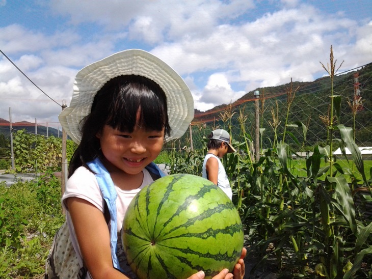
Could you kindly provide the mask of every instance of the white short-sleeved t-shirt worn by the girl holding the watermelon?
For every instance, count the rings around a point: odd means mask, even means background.
[[[131,202],[131,200],[136,196],[136,194],[146,185],[153,182],[150,173],[144,169],[143,170],[143,181],[139,188],[124,191],[115,185],[116,192],[118,194],[116,200],[116,213],[117,213],[117,231],[120,232],[123,225],[123,219],[125,212]],[[83,264],[82,254],[76,239],[75,230],[72,225],[72,220],[68,208],[66,206],[66,199],[75,197],[86,200],[97,207],[101,212],[104,209],[104,200],[102,197],[102,192],[99,189],[99,185],[95,175],[86,169],[84,166],[79,167],[73,175],[68,179],[66,184],[65,193],[62,197],[62,204],[66,208],[66,221],[70,230],[70,238],[72,245],[76,251],[77,257],[81,264]],[[110,225],[109,225],[110,227]],[[89,272],[87,278],[91,278]]]

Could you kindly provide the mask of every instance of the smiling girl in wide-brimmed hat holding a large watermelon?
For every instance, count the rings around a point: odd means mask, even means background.
[[[79,144],[62,202],[87,278],[135,277],[121,246],[125,211],[136,193],[164,176],[152,161],[165,140],[182,136],[193,117],[187,85],[146,51],[122,51],[77,73],[70,107],[59,117]],[[116,206],[105,200],[101,184],[114,185]],[[104,214],[108,211],[109,224]],[[215,278],[243,278],[244,268],[241,259],[234,274],[224,269]],[[199,271],[190,278],[203,277]]]

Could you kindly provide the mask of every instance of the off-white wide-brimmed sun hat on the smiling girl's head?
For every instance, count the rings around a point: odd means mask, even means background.
[[[106,82],[119,75],[141,75],[155,81],[167,96],[171,133],[166,140],[184,134],[194,118],[194,99],[190,89],[170,66],[153,54],[129,49],[90,64],[76,74],[70,106],[58,117],[75,143],[81,141],[79,125],[90,114],[94,96]]]

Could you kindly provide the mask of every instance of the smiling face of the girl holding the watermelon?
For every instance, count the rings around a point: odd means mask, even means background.
[[[105,125],[97,137],[102,154],[110,164],[107,166],[109,172],[119,170],[136,175],[160,154],[164,143],[164,129],[148,131],[136,126],[129,133]]]

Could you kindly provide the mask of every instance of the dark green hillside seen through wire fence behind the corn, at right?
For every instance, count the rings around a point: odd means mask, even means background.
[[[355,142],[360,147],[372,146],[371,70],[372,64],[368,64],[358,72],[336,76],[334,80],[333,96],[341,99],[339,118],[334,117],[334,125],[354,128]],[[289,83],[280,92],[265,90],[267,92],[260,92],[258,99],[252,93],[246,99],[196,114],[189,132],[173,147],[202,150],[206,136],[214,129],[228,130],[237,142],[242,142],[244,136],[253,142],[256,133],[255,102],[259,107],[259,136],[263,149],[273,147],[276,137],[277,142],[285,141],[297,151],[326,145],[331,103],[329,77],[310,83],[294,82],[292,90]],[[284,131],[285,139],[282,138]],[[335,135],[337,137],[337,130]],[[338,147],[337,141],[334,146]]]

